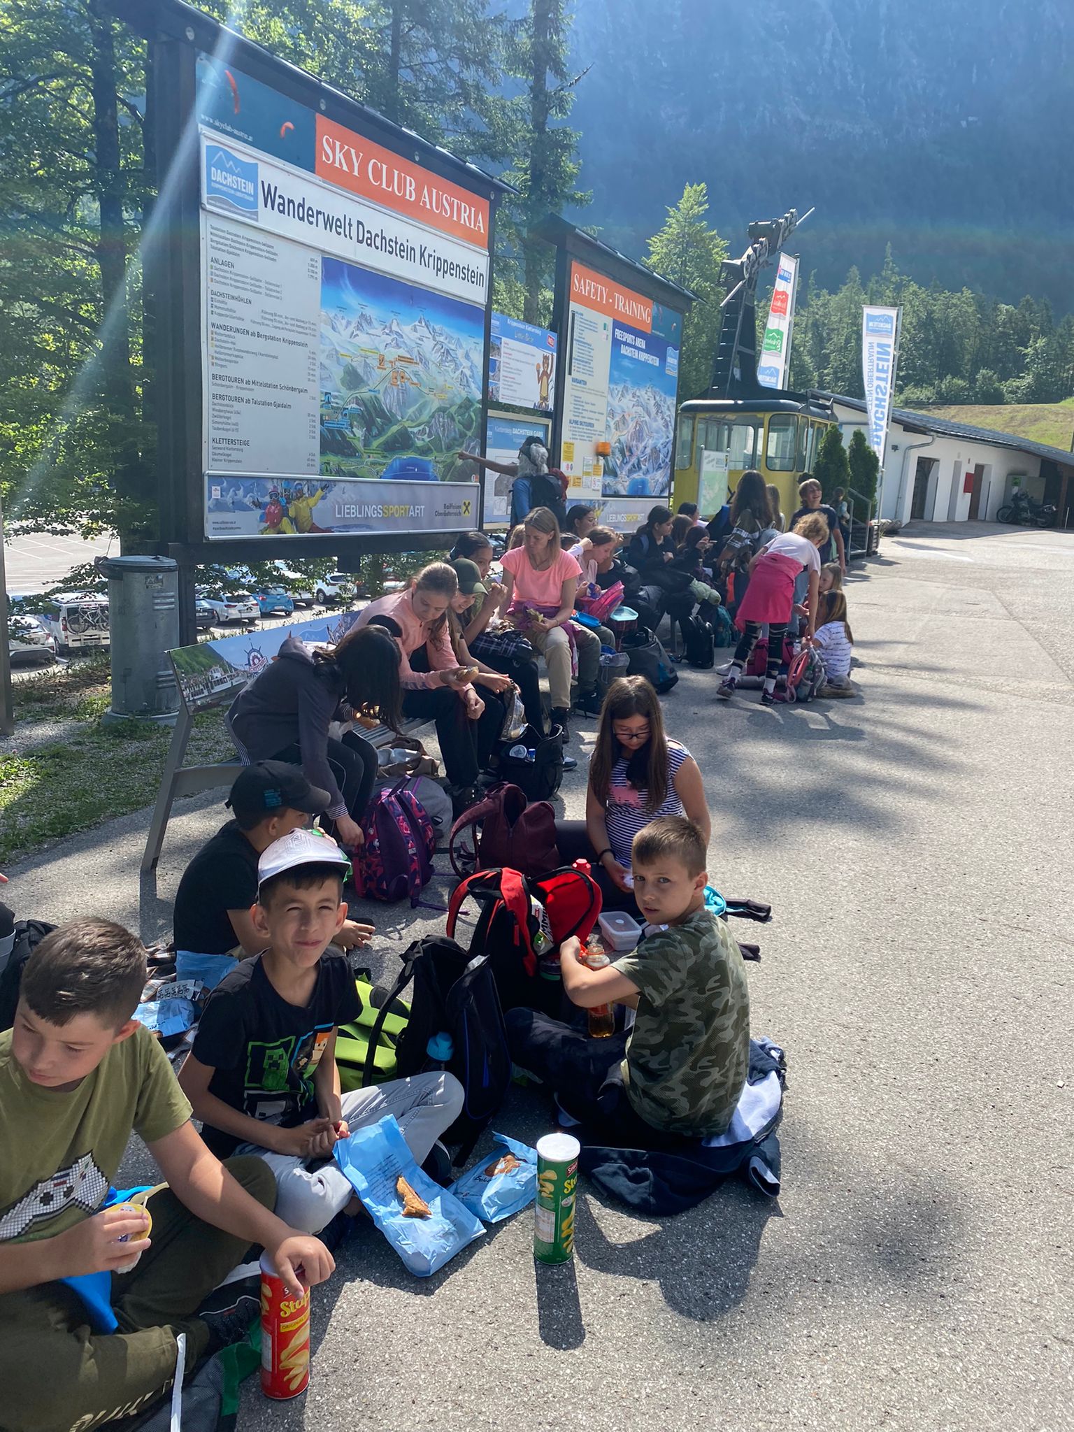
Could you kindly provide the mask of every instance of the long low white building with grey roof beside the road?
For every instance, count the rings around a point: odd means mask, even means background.
[[[866,431],[865,404],[832,394],[843,442]],[[898,521],[995,521],[1015,488],[1055,503],[1058,526],[1074,527],[1074,453],[895,408],[888,428],[881,517]]]

